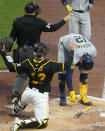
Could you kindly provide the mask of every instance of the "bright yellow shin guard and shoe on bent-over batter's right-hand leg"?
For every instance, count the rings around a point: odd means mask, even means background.
[[[92,105],[92,102],[87,99],[87,84],[82,84],[80,82],[80,98],[79,102],[84,105]]]

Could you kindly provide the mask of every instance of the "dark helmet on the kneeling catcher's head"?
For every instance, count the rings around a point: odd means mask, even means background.
[[[47,54],[47,46],[41,42],[37,42],[34,44],[34,53],[37,57],[42,57]]]

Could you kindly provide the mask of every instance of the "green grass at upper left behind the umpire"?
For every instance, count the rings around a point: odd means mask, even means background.
[[[0,0],[0,38],[10,34],[13,20],[24,15],[24,7],[29,1],[32,0]],[[13,48],[16,48],[16,43]],[[0,56],[0,69],[4,68],[6,66]]]

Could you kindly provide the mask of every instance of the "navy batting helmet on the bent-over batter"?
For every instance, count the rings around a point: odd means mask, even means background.
[[[93,65],[94,65],[94,62],[93,62],[93,59],[92,57],[89,55],[89,54],[84,54],[82,56],[82,63],[81,63],[81,67],[84,69],[84,70],[90,70],[93,68]]]

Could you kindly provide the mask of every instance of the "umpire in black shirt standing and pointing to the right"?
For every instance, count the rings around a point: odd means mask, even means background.
[[[5,46],[5,53],[9,53],[13,46],[13,42],[17,40],[18,48],[13,51],[13,58],[15,63],[29,58],[33,59],[33,44],[40,42],[40,35],[43,32],[53,32],[60,29],[72,15],[66,16],[56,24],[49,24],[45,20],[37,18],[41,12],[40,7],[35,2],[29,2],[25,6],[25,15],[18,17],[13,22],[13,27],[9,37],[0,39],[0,48]],[[8,45],[8,46],[7,46]],[[7,48],[8,47],[8,48]],[[20,98],[23,84],[27,78],[26,73],[21,72],[16,76],[14,88],[12,90],[13,101],[15,102]]]

